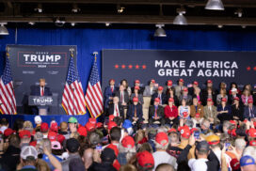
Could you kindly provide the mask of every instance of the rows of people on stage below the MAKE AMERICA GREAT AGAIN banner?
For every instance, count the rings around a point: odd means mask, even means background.
[[[256,121],[256,86],[245,85],[240,90],[236,83],[228,89],[225,83],[220,83],[216,89],[212,80],[207,80],[205,88],[201,89],[197,81],[190,87],[184,85],[184,79],[178,80],[174,86],[171,80],[165,86],[151,80],[149,85],[140,86],[139,80],[130,87],[126,80],[121,80],[119,87],[111,79],[104,89],[104,117],[114,115],[130,119],[134,126],[139,126],[143,120],[143,97],[151,97],[148,123],[180,124],[191,119],[198,126],[203,118],[208,118],[212,125],[225,120]],[[125,109],[127,109],[126,115]]]

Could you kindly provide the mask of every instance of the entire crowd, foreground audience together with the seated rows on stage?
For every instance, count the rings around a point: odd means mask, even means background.
[[[256,86],[110,80],[104,114],[80,125],[0,120],[0,170],[254,171]],[[144,97],[151,105],[145,114]],[[99,121],[100,120],[100,121]]]

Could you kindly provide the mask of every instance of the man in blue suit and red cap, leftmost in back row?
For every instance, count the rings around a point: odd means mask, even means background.
[[[104,88],[104,109],[108,108],[110,102],[113,102],[113,97],[115,95],[116,87],[115,80],[109,80],[109,85]]]

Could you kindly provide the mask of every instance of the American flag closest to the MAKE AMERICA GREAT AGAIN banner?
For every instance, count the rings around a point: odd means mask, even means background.
[[[103,92],[96,57],[88,80],[86,104],[91,117],[100,117],[104,111]]]

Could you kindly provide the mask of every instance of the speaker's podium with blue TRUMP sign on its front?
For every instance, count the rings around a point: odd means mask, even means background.
[[[56,96],[29,96],[28,105],[37,106],[40,116],[47,116],[49,106],[57,105]]]

